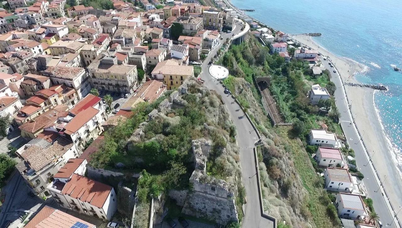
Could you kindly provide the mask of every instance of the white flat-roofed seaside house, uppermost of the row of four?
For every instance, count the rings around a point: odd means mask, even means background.
[[[336,135],[324,129],[312,129],[308,134],[310,145],[319,147],[339,148],[340,142]]]

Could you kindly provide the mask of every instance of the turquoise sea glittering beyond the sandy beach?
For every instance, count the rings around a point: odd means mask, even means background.
[[[254,9],[246,14],[285,33],[322,33],[314,37],[321,47],[367,66],[356,78],[389,88],[376,92],[374,103],[394,151],[402,155],[402,71],[391,67],[402,69],[401,0],[232,0],[232,4]]]

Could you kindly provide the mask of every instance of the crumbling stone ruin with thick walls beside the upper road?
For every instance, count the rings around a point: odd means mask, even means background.
[[[192,141],[195,170],[190,177],[192,191],[187,195],[182,213],[214,220],[219,224],[238,221],[235,204],[236,187],[224,180],[206,174],[206,164],[211,145]]]

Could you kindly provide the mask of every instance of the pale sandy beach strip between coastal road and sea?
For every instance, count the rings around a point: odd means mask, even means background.
[[[236,12],[243,16],[252,18],[252,16],[248,16],[243,12],[240,12],[236,6],[232,5],[231,2],[227,0],[224,1],[228,7],[233,8]],[[267,26],[267,24],[260,22],[255,18],[252,19]],[[272,28],[270,26],[267,27]],[[273,30],[276,31],[275,29]],[[395,208],[398,210],[399,206],[402,205],[402,199],[398,197],[400,195],[400,189],[402,189],[402,167],[398,163],[398,155],[393,149],[391,140],[385,132],[384,126],[381,122],[381,117],[379,116],[379,111],[375,105],[375,90],[371,88],[351,87],[344,84],[347,82],[361,83],[354,77],[354,75],[356,73],[364,73],[369,68],[358,63],[357,61],[354,61],[353,59],[338,57],[332,54],[330,51],[318,45],[318,43],[314,41],[312,37],[306,35],[289,35],[289,37],[303,45],[315,48],[321,54],[328,56],[329,60],[337,69],[338,75],[340,75],[343,87],[345,89],[345,99],[349,100],[351,107],[350,112],[352,118],[355,120],[355,126],[357,128],[359,137],[361,137],[361,143],[364,146],[363,150],[365,150],[367,160],[370,160],[373,165],[372,167],[374,175],[377,173],[377,177],[381,177],[379,181],[384,189],[386,201],[388,200],[391,205],[391,214],[395,214]],[[363,135],[361,132],[363,132]],[[369,143],[366,144],[365,142]],[[378,154],[376,154],[377,152]],[[375,169],[374,167],[379,167],[379,169]],[[386,178],[389,178],[388,181],[386,181]],[[399,220],[402,219],[402,214],[396,215],[396,218],[399,223]]]

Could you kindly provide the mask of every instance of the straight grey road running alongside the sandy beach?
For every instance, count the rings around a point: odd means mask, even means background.
[[[336,107],[338,108],[340,113],[339,121],[345,137],[348,140],[350,148],[355,151],[356,163],[358,165],[359,171],[364,175],[363,182],[367,189],[367,195],[369,198],[373,199],[375,212],[377,212],[377,214],[379,215],[383,227],[396,228],[395,222],[392,225],[388,225],[393,220],[393,212],[390,212],[390,210],[388,209],[387,199],[384,198],[383,194],[381,193],[381,189],[378,190],[380,186],[376,180],[376,174],[373,173],[371,165],[367,165],[367,156],[359,141],[360,138],[359,136],[357,136],[355,128],[352,124],[353,119],[349,115],[349,109],[347,106],[347,102],[345,101],[345,94],[342,89],[342,81],[340,80],[338,73],[333,72],[334,68],[329,67],[328,61],[325,61],[322,56],[320,56],[320,60],[322,61],[323,65],[330,71],[331,81],[334,82],[334,84],[336,85],[334,97],[336,101]]]

